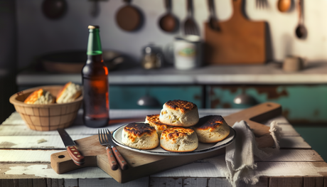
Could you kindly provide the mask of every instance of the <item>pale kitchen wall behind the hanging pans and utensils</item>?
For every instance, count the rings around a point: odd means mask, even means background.
[[[141,48],[154,43],[166,46],[177,33],[164,33],[158,25],[159,18],[166,12],[164,0],[134,0],[132,5],[144,14],[144,24],[134,32],[122,31],[115,22],[115,15],[124,6],[122,0],[102,0],[100,14],[93,17],[90,7],[94,1],[65,0],[68,11],[58,20],[50,20],[41,11],[42,0],[16,0],[18,29],[18,68],[28,66],[33,58],[43,53],[58,50],[85,49],[87,26],[101,26],[104,49],[118,50],[139,59]],[[282,61],[286,55],[300,55],[310,61],[327,60],[327,0],[304,0],[304,24],[308,30],[305,40],[295,36],[298,23],[297,2],[286,13],[277,9],[278,0],[267,0],[269,7],[257,9],[255,0],[245,1],[245,12],[252,21],[267,21],[272,40],[273,60]],[[232,0],[215,0],[216,13],[220,21],[232,15]],[[193,0],[195,20],[203,35],[203,23],[208,20],[207,1]],[[173,1],[173,14],[183,23],[186,18],[186,0]],[[242,28],[240,28],[242,29]]]

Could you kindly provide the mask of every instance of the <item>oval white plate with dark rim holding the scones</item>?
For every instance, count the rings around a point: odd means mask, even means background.
[[[122,130],[124,129],[124,127],[126,125],[127,124],[114,130],[114,132],[112,133],[113,134],[112,140],[118,146],[122,146],[125,149],[140,152],[143,154],[154,154],[154,155],[164,155],[164,156],[182,156],[182,155],[191,155],[191,154],[202,154],[202,153],[206,153],[206,152],[210,152],[210,151],[215,151],[216,149],[221,149],[221,148],[231,144],[232,141],[234,141],[235,137],[236,137],[235,130],[232,127],[230,127],[230,134],[225,139],[223,139],[223,141],[219,141],[218,143],[215,143],[215,144],[202,144],[199,142],[198,148],[191,152],[176,153],[176,152],[166,151],[166,150],[162,149],[160,145],[158,147],[156,147],[155,149],[141,150],[141,149],[132,148],[130,146],[126,146],[122,143]]]

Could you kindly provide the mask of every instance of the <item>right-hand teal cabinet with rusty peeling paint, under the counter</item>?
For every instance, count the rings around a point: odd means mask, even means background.
[[[233,102],[244,92],[257,103],[277,102],[293,124],[327,122],[327,85],[211,85],[206,87],[208,108],[245,108]]]

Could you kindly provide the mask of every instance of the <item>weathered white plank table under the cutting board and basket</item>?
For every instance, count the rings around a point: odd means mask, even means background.
[[[208,114],[225,116],[237,111],[199,109],[200,117]],[[147,114],[157,113],[159,110],[156,109],[112,109],[110,116],[145,118]],[[272,120],[282,127],[281,150],[267,160],[256,159],[256,171],[262,177],[255,186],[327,186],[326,162],[284,117],[275,117],[264,124],[269,125]],[[114,124],[107,128],[114,130],[121,125]],[[80,113],[66,131],[72,139],[97,134],[97,129],[82,124]],[[128,183],[117,183],[97,167],[57,174],[50,167],[50,155],[63,150],[65,146],[58,132],[28,129],[19,114],[14,112],[0,125],[0,186],[230,186],[223,173],[205,161],[196,161]],[[243,183],[242,186],[250,184]]]

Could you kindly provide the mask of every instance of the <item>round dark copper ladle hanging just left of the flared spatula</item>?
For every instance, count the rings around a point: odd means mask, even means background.
[[[171,13],[171,0],[165,0],[165,6],[167,13],[160,18],[159,26],[163,31],[166,31],[168,33],[177,31],[178,20]]]

